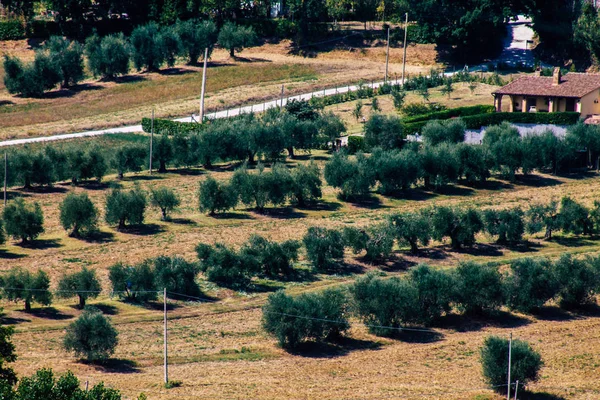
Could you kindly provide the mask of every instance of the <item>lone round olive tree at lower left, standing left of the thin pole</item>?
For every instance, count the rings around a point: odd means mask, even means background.
[[[67,327],[63,347],[87,361],[106,360],[115,352],[117,336],[117,330],[100,310],[88,308]]]

